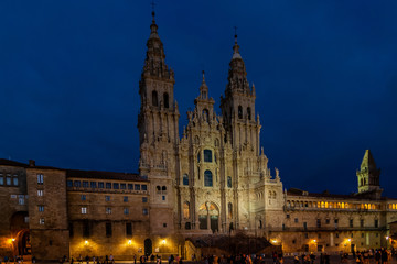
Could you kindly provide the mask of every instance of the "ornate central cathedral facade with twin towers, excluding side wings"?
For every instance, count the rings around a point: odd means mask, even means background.
[[[139,82],[138,129],[139,172],[151,183],[151,230],[162,235],[249,229],[258,218],[251,216],[250,193],[264,191],[258,188],[271,176],[260,151],[255,87],[248,84],[237,37],[221,98],[222,116],[214,111],[203,74],[195,108],[187,112],[189,123],[180,138],[174,73],[165,64],[154,13],[150,30]],[[280,180],[276,185],[281,196]]]

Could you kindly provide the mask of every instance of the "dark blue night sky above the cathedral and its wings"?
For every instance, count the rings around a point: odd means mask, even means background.
[[[233,26],[285,187],[356,190],[366,148],[397,196],[397,1],[157,1],[180,127],[223,94]],[[0,1],[0,157],[137,172],[150,1]]]

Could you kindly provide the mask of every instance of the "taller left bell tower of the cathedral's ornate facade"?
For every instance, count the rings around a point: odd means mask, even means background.
[[[152,12],[147,55],[139,81],[141,99],[138,114],[140,142],[139,174],[151,183],[150,227],[153,234],[167,235],[174,230],[173,179],[179,172],[179,110],[174,101],[174,73],[165,64],[163,44]]]

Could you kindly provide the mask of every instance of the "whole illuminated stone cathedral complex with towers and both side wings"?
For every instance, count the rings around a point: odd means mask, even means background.
[[[393,246],[397,199],[382,196],[369,150],[355,175],[355,194],[283,189],[260,146],[255,86],[237,35],[230,55],[221,114],[203,72],[180,135],[174,73],[153,13],[139,81],[139,173],[0,160],[0,255],[190,260],[204,248],[219,248],[208,239],[242,233],[294,254]]]

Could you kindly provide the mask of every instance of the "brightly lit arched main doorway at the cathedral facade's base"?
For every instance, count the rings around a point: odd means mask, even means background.
[[[198,208],[200,229],[211,229],[214,232],[219,231],[219,209],[211,201],[202,204]]]

